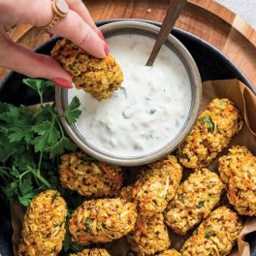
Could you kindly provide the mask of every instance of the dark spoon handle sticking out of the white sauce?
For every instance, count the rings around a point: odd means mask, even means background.
[[[155,58],[156,58],[157,54],[159,53],[160,48],[162,48],[169,33],[175,26],[176,19],[182,12],[185,4],[186,4],[186,0],[171,0],[171,3],[167,9],[165,19],[164,19],[161,29],[158,33],[154,48],[152,49],[150,56],[145,64],[146,66],[153,65]]]

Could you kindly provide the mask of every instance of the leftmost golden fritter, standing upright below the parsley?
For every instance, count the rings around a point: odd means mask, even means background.
[[[22,228],[19,256],[54,256],[62,249],[67,205],[53,189],[35,196],[27,208]]]

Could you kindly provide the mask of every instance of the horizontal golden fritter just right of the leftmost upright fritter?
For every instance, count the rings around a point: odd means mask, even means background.
[[[129,233],[137,218],[136,205],[125,200],[98,199],[85,201],[69,222],[72,240],[81,245],[108,242]]]

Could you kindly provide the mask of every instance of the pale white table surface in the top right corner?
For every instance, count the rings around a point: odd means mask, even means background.
[[[256,29],[256,0],[216,0]]]

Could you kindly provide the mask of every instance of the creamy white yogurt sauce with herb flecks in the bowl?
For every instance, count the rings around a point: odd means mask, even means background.
[[[68,101],[80,99],[77,125],[87,143],[111,155],[147,155],[174,140],[185,124],[191,106],[187,71],[166,46],[154,66],[145,67],[155,42],[145,36],[118,35],[107,42],[123,72],[121,88],[101,102],[73,88]]]

